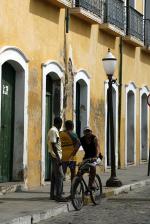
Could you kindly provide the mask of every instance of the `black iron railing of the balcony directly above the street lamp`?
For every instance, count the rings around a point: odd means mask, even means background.
[[[125,8],[122,0],[106,0],[104,7],[104,22],[125,29]]]

